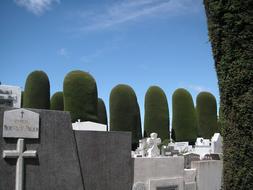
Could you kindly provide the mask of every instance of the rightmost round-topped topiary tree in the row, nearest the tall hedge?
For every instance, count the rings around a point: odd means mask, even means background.
[[[198,118],[198,136],[211,139],[218,132],[217,104],[215,97],[209,92],[201,92],[196,99]]]

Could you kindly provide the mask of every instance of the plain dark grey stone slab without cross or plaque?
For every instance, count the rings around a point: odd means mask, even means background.
[[[85,190],[131,190],[131,133],[75,131]]]

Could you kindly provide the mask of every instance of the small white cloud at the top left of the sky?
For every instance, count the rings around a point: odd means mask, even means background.
[[[50,10],[53,3],[60,3],[60,0],[14,0],[20,7],[25,7],[35,15],[42,15]]]

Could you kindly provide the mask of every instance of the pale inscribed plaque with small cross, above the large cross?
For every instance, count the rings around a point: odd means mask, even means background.
[[[26,109],[5,111],[3,137],[39,138],[39,114]]]

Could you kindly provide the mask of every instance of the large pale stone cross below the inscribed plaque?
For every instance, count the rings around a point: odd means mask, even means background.
[[[15,190],[23,189],[24,158],[35,158],[36,150],[25,150],[24,139],[18,139],[17,150],[4,150],[3,158],[17,158]]]

